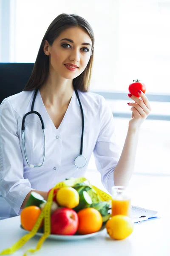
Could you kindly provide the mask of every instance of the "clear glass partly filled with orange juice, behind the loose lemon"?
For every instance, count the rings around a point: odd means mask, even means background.
[[[126,191],[125,186],[112,187],[112,212],[111,215],[126,215],[130,217],[131,197]]]

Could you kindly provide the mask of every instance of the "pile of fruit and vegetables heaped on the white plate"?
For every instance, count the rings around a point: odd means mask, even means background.
[[[49,193],[52,189],[48,191]],[[87,182],[76,183],[53,190],[50,209],[51,234],[85,235],[98,232],[111,217],[111,201],[101,201],[98,193]],[[21,225],[31,231],[47,202],[31,192],[21,212]],[[38,232],[44,231],[43,220]]]

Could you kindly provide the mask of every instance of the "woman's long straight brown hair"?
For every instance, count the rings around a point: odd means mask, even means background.
[[[40,88],[42,84],[48,78],[49,73],[49,56],[45,55],[43,51],[43,46],[45,40],[48,41],[50,46],[53,44],[54,40],[59,36],[59,34],[69,27],[82,27],[91,38],[92,41],[92,49],[91,49],[91,57],[88,62],[87,67],[85,70],[76,78],[73,79],[73,86],[76,87],[78,90],[83,92],[89,91],[90,80],[91,80],[91,73],[92,73],[92,64],[94,59],[94,32],[91,28],[90,24],[79,15],[75,14],[67,14],[62,13],[58,15],[50,24],[45,35],[42,39],[40,49],[37,54],[36,61],[34,63],[34,68],[32,70],[31,76],[23,89],[23,91],[30,91],[37,88]]]

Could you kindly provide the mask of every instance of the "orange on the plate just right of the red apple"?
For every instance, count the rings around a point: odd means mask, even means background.
[[[97,232],[102,227],[102,215],[94,208],[85,208],[77,212],[79,226],[77,232],[81,235]]]

